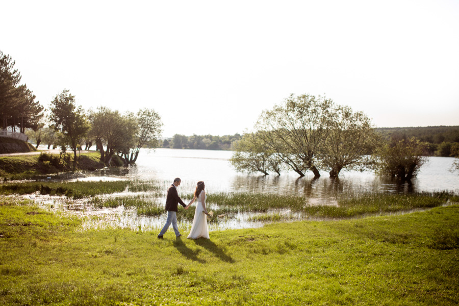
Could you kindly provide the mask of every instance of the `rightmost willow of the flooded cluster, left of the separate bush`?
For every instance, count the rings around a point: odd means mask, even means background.
[[[327,137],[318,154],[321,168],[327,169],[333,178],[338,177],[342,169],[363,171],[372,163],[370,154],[376,143],[370,118],[340,105],[332,114]]]

